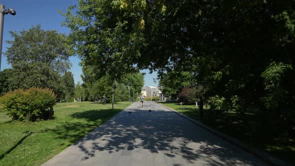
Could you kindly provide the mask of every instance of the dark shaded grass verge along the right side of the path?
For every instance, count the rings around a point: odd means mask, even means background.
[[[273,128],[260,123],[261,115],[255,113],[240,115],[236,112],[212,115],[211,112],[205,110],[204,118],[200,119],[198,108],[195,105],[161,103],[246,144],[262,149],[295,165],[295,140],[289,138],[286,131],[272,134],[271,130]]]

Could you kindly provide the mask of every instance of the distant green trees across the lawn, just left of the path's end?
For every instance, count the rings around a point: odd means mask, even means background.
[[[89,70],[89,67],[83,67],[82,70],[83,84],[76,85],[76,89],[81,89],[76,90],[76,93],[79,93],[79,96],[83,94],[83,98],[86,97],[91,101],[102,99],[104,94],[107,98],[106,102],[111,101],[112,87],[114,88],[115,101],[132,100],[133,97],[136,98],[140,95],[141,87],[144,84],[143,74],[140,72],[127,73],[122,76],[122,79],[112,81],[109,75],[97,78],[95,72]]]

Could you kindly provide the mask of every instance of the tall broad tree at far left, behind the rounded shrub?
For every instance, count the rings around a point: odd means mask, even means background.
[[[5,41],[10,46],[4,52],[12,66],[9,88],[48,87],[60,97],[61,74],[70,67],[66,35],[40,25],[9,32],[13,40]]]

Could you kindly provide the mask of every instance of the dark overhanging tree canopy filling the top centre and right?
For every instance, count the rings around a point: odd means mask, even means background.
[[[168,95],[194,87],[212,104],[289,121],[294,8],[293,0],[79,0],[63,15],[72,50],[95,75],[113,81],[149,68]]]

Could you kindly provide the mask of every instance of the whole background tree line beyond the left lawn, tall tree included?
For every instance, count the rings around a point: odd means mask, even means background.
[[[128,100],[128,87],[138,95],[143,86],[143,75],[139,72],[125,74],[121,80],[112,82],[109,76],[93,77],[93,70],[83,67],[84,83],[74,84],[68,57],[72,55],[66,35],[56,30],[43,30],[40,25],[20,32],[10,31],[12,40],[5,41],[10,46],[4,52],[11,68],[0,71],[0,93],[30,87],[50,88],[56,99],[72,101],[109,98],[114,83],[115,101]],[[91,71],[91,72],[90,72]],[[132,95],[131,95],[132,96]]]

